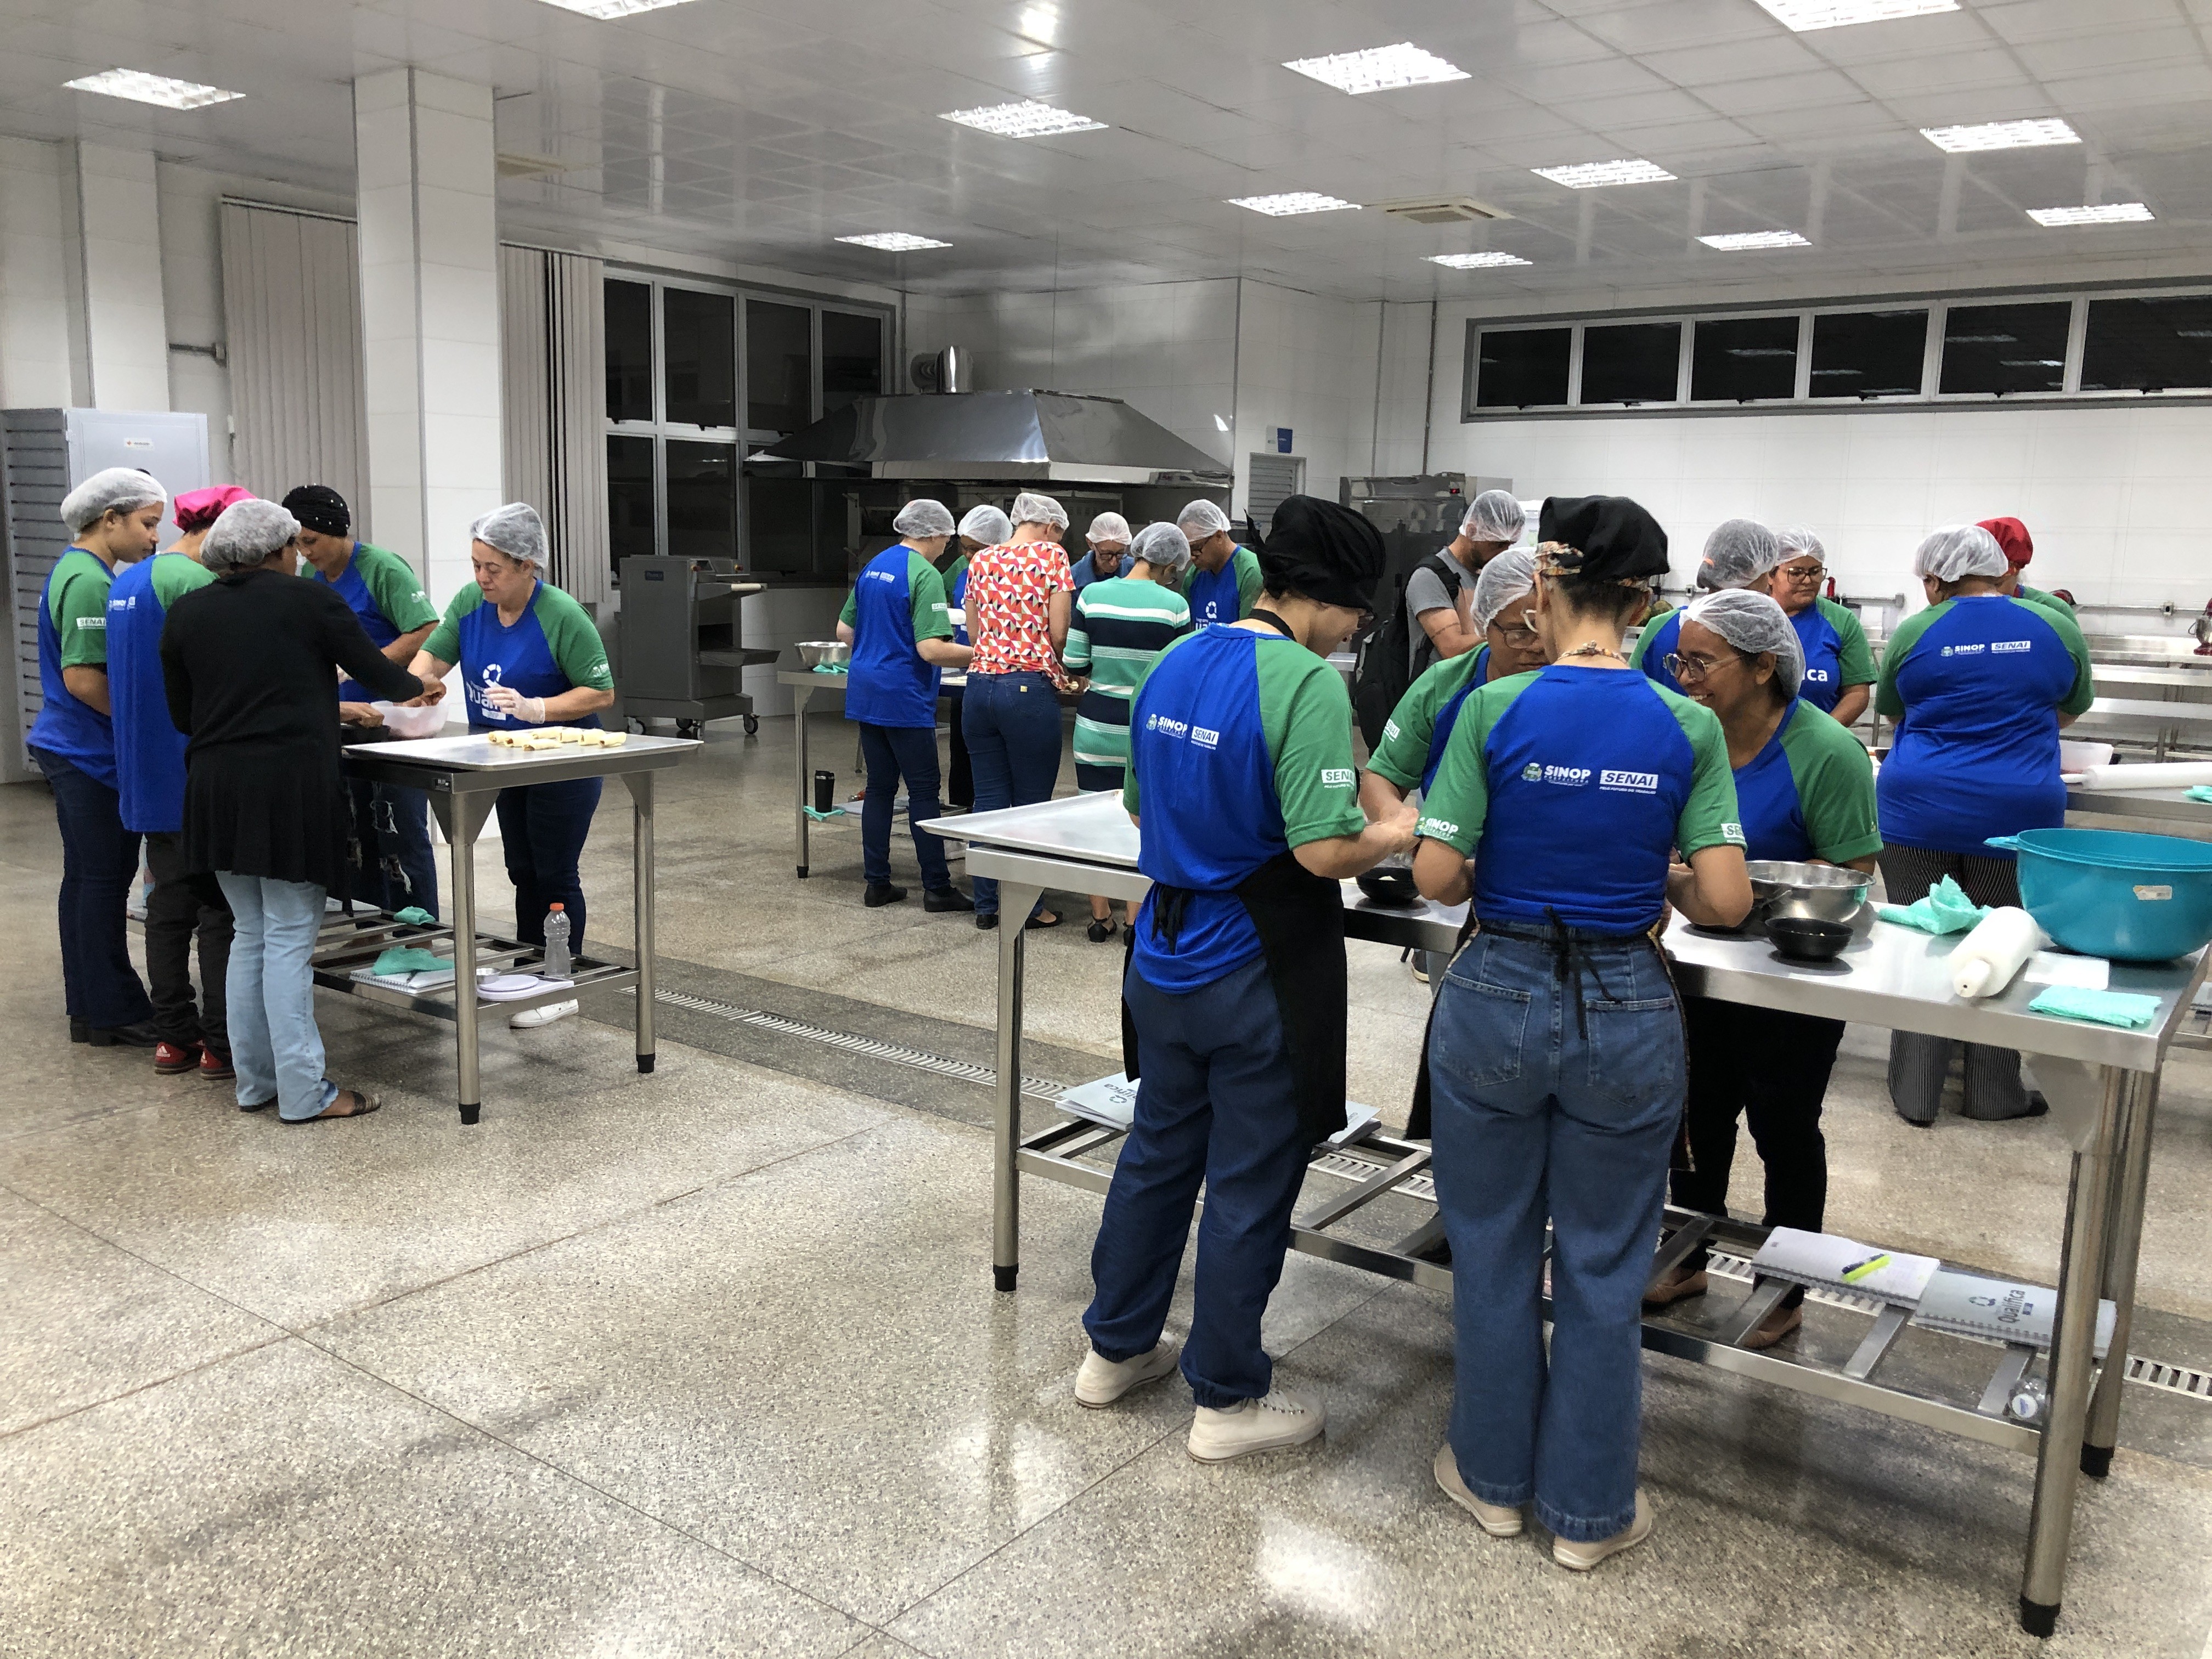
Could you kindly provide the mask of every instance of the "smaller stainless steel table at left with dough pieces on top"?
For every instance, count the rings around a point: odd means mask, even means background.
[[[699,748],[684,737],[633,737],[622,748],[511,750],[487,737],[425,737],[400,743],[354,743],[343,763],[349,779],[396,783],[429,794],[429,807],[445,830],[449,858],[447,920],[436,927],[409,927],[378,918],[363,927],[323,931],[314,953],[314,982],[325,991],[343,991],[389,1009],[409,1009],[453,1022],[453,1048],[460,1073],[460,1121],[476,1124],[482,1115],[478,1082],[476,1029],[484,1009],[507,1015],[549,1002],[566,1002],[584,991],[637,989],[637,1068],[653,1071],[653,774],[684,761]],[[500,790],[531,783],[571,783],[575,779],[619,776],[633,805],[633,947],[637,967],[604,962],[593,956],[573,958],[573,987],[540,991],[531,998],[484,1002],[458,995],[476,984],[478,962],[515,964],[535,960],[540,947],[500,933],[476,931],[476,836],[484,827]],[[453,984],[434,991],[403,991],[389,984],[356,980],[354,969],[367,967],[389,945],[431,949],[449,942],[453,951]]]

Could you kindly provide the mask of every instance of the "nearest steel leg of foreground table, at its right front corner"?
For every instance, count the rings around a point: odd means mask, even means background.
[[[2073,1544],[2073,1504],[2081,1480],[2081,1436],[2088,1425],[2090,1354],[2097,1345],[2097,1296],[2110,1250],[2112,1146],[2130,1073],[2104,1071],[2097,1133],[2075,1152],[2066,1188],[2066,1243],[2059,1254],[2059,1318],[2051,1345],[2051,1407],[2035,1453],[2035,1509],[2028,1517],[2028,1562],[2020,1582],[2020,1626],[2035,1637],[2057,1628]]]

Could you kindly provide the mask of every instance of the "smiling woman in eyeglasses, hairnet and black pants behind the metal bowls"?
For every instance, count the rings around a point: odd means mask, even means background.
[[[1752,860],[1874,869],[1882,830],[1874,812],[1867,750],[1823,714],[1805,686],[1796,624],[1763,593],[1708,593],[1683,613],[1681,650],[1668,661],[1692,701],[1721,717],[1728,765]],[[1686,998],[1690,1026],[1690,1164],[1674,1170],[1674,1203],[1728,1212],[1736,1119],[1752,1126],[1765,1164],[1767,1228],[1818,1232],[1827,1212],[1827,1141],[1820,1102],[1836,1068],[1843,1020]],[[1705,1252],[1646,1292],[1652,1305],[1705,1294]],[[1743,1347],[1772,1347],[1805,1314],[1803,1292],[1767,1314]]]

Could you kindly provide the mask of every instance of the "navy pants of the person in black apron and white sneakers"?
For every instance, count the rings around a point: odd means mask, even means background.
[[[1259,1321],[1283,1276],[1290,1208],[1312,1152],[1298,1133],[1283,1018],[1261,960],[1175,995],[1135,969],[1124,984],[1137,1020],[1137,1121],[1121,1141],[1106,1214],[1091,1250],[1097,1294],[1084,1314],[1108,1360],[1148,1354],[1175,1296],[1199,1217],[1197,1307],[1183,1378],[1199,1405],[1223,1409],[1267,1391],[1274,1363]]]

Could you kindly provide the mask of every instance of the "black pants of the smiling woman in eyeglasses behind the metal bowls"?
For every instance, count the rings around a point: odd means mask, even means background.
[[[1683,998],[1690,1024],[1690,1161],[1674,1170],[1674,1203],[1728,1212],[1728,1172],[1736,1161],[1736,1119],[1752,1126],[1767,1166],[1761,1225],[1818,1232],[1827,1214],[1827,1139],[1820,1102],[1836,1068],[1843,1020]],[[1705,1252],[1683,1263],[1705,1265]],[[1792,1301],[1803,1301],[1794,1296]]]

